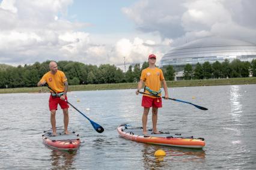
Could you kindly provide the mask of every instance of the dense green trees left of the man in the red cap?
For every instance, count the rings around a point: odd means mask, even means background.
[[[49,63],[35,62],[32,65],[8,66],[0,65],[0,88],[34,87],[43,75],[49,71]],[[139,80],[143,68],[148,67],[144,62],[142,68],[136,64],[132,65],[126,73],[115,65],[103,64],[85,65],[81,62],[59,61],[58,69],[66,74],[70,85],[78,84],[104,84],[104,83],[126,83]]]

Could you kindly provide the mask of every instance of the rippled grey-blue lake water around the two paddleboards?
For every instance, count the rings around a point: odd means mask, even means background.
[[[121,138],[117,126],[141,126],[141,95],[135,89],[69,92],[69,102],[105,128],[97,133],[70,107],[69,129],[82,145],[70,154],[47,148],[41,139],[50,128],[49,93],[0,94],[0,169],[255,169],[256,84],[169,88],[171,98],[206,107],[163,100],[159,130],[202,137],[203,149],[142,144]],[[90,108],[90,111],[88,111]],[[56,114],[63,126],[62,110]],[[148,116],[151,128],[151,114]],[[166,152],[163,161],[156,150]]]

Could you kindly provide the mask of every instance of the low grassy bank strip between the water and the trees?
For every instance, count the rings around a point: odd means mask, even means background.
[[[138,83],[118,83],[118,84],[87,84],[69,86],[71,91],[81,90],[114,90],[114,89],[136,89]],[[210,80],[183,80],[167,81],[168,87],[189,87],[189,86],[219,86],[234,84],[256,84],[256,77],[210,79]],[[47,92],[47,87],[24,87],[14,89],[0,89],[0,93],[38,93]]]

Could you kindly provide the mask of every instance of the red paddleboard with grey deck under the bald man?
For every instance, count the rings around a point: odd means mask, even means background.
[[[67,151],[77,150],[81,144],[78,133],[72,132],[66,135],[63,129],[57,129],[56,133],[57,135],[53,136],[51,129],[44,131],[42,135],[43,143],[51,148]]]

